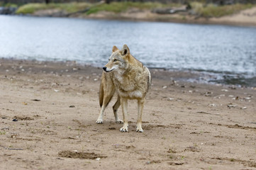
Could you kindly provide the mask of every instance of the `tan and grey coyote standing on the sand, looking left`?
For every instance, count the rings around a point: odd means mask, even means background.
[[[109,101],[117,91],[118,98],[113,105],[113,114],[116,123],[123,123],[121,132],[128,132],[127,107],[128,99],[138,101],[138,120],[136,132],[143,132],[142,116],[145,96],[150,88],[151,74],[147,67],[130,55],[127,45],[123,45],[122,50],[113,46],[112,54],[108,63],[103,67],[104,72],[101,76],[101,85],[99,88],[99,105],[101,112],[96,123],[103,123],[103,113],[108,106]],[[119,106],[123,110],[123,120],[117,115]]]

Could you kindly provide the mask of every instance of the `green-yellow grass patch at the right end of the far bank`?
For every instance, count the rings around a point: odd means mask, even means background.
[[[199,2],[191,3],[191,6],[199,16],[205,18],[227,16],[233,13],[238,13],[246,8],[252,8],[252,4],[234,4],[226,6],[208,4],[207,6],[204,6]]]

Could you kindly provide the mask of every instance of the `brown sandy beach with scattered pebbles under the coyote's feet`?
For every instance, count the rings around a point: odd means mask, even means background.
[[[135,101],[119,132],[114,101],[96,124],[100,68],[1,59],[0,169],[256,169],[256,89],[150,71],[145,132],[135,132]]]

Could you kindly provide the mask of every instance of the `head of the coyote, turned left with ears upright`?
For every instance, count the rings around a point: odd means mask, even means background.
[[[127,45],[123,45],[122,50],[114,45],[112,54],[108,59],[108,63],[103,67],[105,72],[112,72],[128,67],[128,58],[130,57],[130,50]]]

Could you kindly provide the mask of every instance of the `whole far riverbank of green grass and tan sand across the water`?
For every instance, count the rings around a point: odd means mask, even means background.
[[[233,4],[182,4],[113,2],[104,4],[26,4],[17,14],[31,16],[94,18],[126,21],[156,21],[174,23],[221,24],[233,26],[256,26],[256,6]]]

